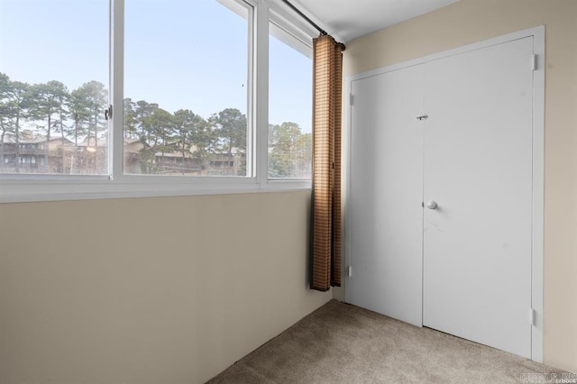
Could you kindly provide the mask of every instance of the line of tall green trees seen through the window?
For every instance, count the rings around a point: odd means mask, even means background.
[[[6,135],[18,143],[24,130],[47,141],[58,135],[76,146],[105,145],[107,100],[108,90],[95,80],[69,90],[57,80],[28,84],[0,73],[0,155]],[[170,113],[159,104],[125,98],[124,138],[144,143],[142,163],[150,163],[158,153],[176,152],[205,164],[216,154],[246,156],[247,119],[236,108],[204,118],[189,109]],[[271,177],[309,171],[311,134],[302,133],[297,123],[270,124],[269,147]]]

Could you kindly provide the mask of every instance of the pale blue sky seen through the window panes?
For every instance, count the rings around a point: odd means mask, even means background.
[[[108,88],[107,0],[0,0],[0,72]],[[246,20],[215,0],[125,0],[124,97],[207,118],[247,110]],[[311,59],[270,37],[270,123],[311,131]]]

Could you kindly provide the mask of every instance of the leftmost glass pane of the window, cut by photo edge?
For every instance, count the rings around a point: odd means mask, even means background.
[[[0,173],[108,173],[108,0],[0,0]]]

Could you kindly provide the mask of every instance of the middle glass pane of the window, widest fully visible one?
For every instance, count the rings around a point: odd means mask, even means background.
[[[124,173],[247,175],[250,14],[233,0],[126,0]]]

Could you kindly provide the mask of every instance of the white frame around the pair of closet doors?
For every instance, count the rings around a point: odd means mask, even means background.
[[[544,209],[545,209],[545,25],[518,32],[508,33],[485,41],[474,42],[452,50],[444,50],[419,59],[410,59],[380,69],[373,69],[352,76],[344,80],[344,100],[351,100],[353,81],[370,78],[397,69],[424,64],[434,59],[446,58],[460,53],[481,50],[493,45],[508,41],[515,41],[533,37],[533,52],[536,55],[536,68],[533,71],[533,207],[532,207],[532,255],[531,255],[531,306],[534,313],[527,313],[527,321],[533,317],[531,328],[531,360],[543,362],[543,333],[544,333]],[[531,65],[527,62],[527,65]],[[344,119],[346,122],[343,133],[343,189],[344,197],[344,264],[345,270],[353,265],[351,254],[351,141],[352,141],[352,105],[346,103]],[[424,113],[426,111],[423,111]],[[346,285],[348,273],[344,279],[345,301],[347,300]]]

